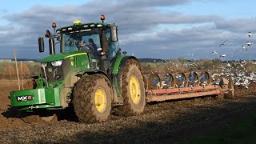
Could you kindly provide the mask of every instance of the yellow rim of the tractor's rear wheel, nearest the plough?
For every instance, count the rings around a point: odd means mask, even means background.
[[[141,94],[141,90],[140,90],[140,86],[139,86],[139,82],[138,82],[138,78],[131,76],[130,77],[130,96],[132,101],[135,104],[138,104],[139,100],[140,100],[140,94]]]

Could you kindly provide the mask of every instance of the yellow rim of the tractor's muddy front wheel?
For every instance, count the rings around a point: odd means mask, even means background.
[[[98,112],[102,113],[106,109],[106,92],[101,88],[96,90],[94,102]]]

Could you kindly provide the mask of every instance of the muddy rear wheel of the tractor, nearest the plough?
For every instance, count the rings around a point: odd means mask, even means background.
[[[145,108],[145,88],[138,62],[129,59],[122,71],[123,105],[118,108],[122,115],[138,115]]]

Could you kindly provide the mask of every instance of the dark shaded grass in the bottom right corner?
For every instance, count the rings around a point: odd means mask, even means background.
[[[256,143],[256,114],[249,114],[206,132],[186,143]]]

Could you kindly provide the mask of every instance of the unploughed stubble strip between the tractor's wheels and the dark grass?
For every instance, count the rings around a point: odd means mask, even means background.
[[[147,105],[139,116],[111,116],[108,122],[61,121],[3,129],[0,142],[182,142],[250,111],[256,111],[255,96],[162,102]]]

